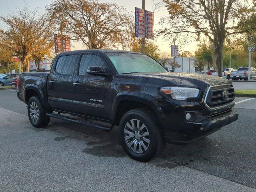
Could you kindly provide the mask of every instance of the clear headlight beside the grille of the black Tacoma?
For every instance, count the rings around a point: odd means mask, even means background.
[[[199,90],[189,87],[162,87],[160,91],[172,96],[176,100],[186,100],[187,98],[197,98]]]

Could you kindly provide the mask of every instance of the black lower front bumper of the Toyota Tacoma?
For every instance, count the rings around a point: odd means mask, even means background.
[[[186,132],[166,132],[165,139],[166,142],[172,144],[185,145],[194,142],[200,138],[206,137],[218,130],[221,127],[228,125],[238,119],[238,113],[234,110],[215,116],[213,118],[208,118],[203,120],[201,123],[186,122],[191,128],[190,131]]]

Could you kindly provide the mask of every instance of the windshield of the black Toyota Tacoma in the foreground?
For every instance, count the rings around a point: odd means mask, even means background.
[[[154,59],[136,53],[106,53],[119,74],[142,72],[167,72],[167,70]]]

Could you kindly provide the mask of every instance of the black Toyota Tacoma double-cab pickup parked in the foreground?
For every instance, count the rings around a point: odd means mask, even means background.
[[[18,98],[36,127],[50,118],[110,131],[125,152],[148,161],[166,142],[188,144],[238,119],[232,83],[168,72],[144,54],[79,50],[56,56],[48,73],[23,73]]]

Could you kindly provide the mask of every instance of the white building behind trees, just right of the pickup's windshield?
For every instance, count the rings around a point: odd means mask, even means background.
[[[170,60],[173,61],[173,58]],[[193,66],[194,57],[176,57],[175,61],[178,62],[182,67],[176,68],[175,72],[187,72],[187,73],[195,73],[198,70],[198,67]],[[168,66],[168,70],[171,70],[172,67]],[[204,72],[207,72],[207,66],[204,66]]]

